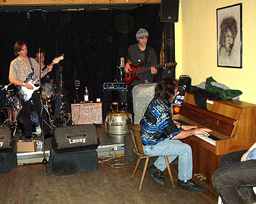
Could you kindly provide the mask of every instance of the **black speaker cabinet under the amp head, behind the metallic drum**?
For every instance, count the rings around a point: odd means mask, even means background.
[[[127,103],[127,90],[103,90],[102,117],[103,123],[107,117],[107,113],[111,110],[112,102]],[[127,110],[127,106],[125,107]]]

